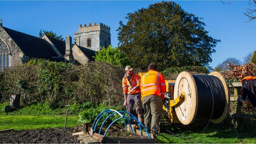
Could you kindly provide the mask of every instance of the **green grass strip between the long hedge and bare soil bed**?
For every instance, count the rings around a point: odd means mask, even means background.
[[[4,113],[7,103],[0,104],[0,130],[11,129],[46,129],[51,127],[64,127],[66,108],[50,109],[44,104],[25,106],[11,113]],[[70,114],[67,118],[67,127],[77,126],[78,114]],[[79,125],[79,124],[78,124]]]

